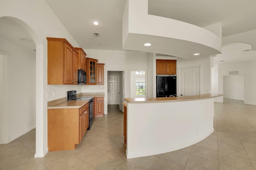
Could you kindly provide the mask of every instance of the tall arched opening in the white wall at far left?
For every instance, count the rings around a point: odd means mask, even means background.
[[[0,143],[10,143],[34,129],[35,153],[36,44],[35,33],[17,18],[0,18],[1,105]],[[33,36],[33,37],[32,37]],[[32,138],[33,138],[32,137]]]

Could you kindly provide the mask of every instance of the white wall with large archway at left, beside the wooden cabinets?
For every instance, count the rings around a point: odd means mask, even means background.
[[[35,157],[42,157],[48,152],[46,109],[48,100],[46,99],[46,92],[52,91],[52,87],[47,85],[46,37],[66,38],[74,47],[79,47],[79,45],[44,0],[1,0],[0,17],[4,16],[13,17],[14,21],[22,25],[22,27],[28,31],[36,43]],[[66,92],[67,88],[64,86],[56,86],[54,90],[59,90],[60,97],[62,97],[62,94]],[[20,100],[22,100],[22,98],[20,98]],[[19,112],[17,112],[17,114],[19,114]],[[14,135],[18,135],[18,133]]]

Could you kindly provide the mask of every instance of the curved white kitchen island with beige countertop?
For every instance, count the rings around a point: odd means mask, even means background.
[[[125,98],[127,158],[171,152],[202,141],[214,131],[214,98],[220,96]]]

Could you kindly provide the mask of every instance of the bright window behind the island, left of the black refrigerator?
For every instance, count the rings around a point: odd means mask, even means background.
[[[145,96],[145,72],[136,71],[136,96]]]

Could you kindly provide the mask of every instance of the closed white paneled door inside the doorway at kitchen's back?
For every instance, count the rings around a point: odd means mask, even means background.
[[[108,76],[108,104],[119,104],[119,75]]]

